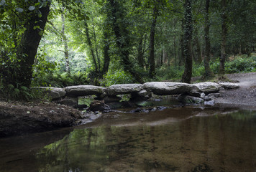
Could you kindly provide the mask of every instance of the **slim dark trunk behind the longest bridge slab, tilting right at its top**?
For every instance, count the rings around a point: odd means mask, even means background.
[[[157,15],[157,6],[155,6],[152,14],[152,25],[150,29],[150,77],[155,77],[155,27],[157,24]]]

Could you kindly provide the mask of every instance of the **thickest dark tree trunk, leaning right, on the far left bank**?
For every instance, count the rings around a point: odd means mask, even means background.
[[[45,29],[47,22],[47,16],[50,11],[50,1],[47,2],[45,7],[38,9],[42,16],[38,16],[35,11],[32,11],[27,24],[25,24],[26,30],[22,34],[22,39],[17,47],[17,59],[19,67],[14,77],[17,78],[16,82],[18,86],[29,87],[32,80],[32,65],[35,61],[37,54],[37,48],[42,38],[42,32]],[[39,27],[39,28],[38,28]]]

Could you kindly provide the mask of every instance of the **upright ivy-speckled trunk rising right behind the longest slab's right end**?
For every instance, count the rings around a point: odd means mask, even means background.
[[[181,82],[190,83],[192,77],[192,55],[191,55],[191,40],[193,33],[192,24],[192,0],[186,0],[185,2],[185,26],[184,26],[184,59],[185,70],[182,76]]]

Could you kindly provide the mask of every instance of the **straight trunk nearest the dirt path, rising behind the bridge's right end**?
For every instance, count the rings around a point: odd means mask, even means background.
[[[221,0],[221,57],[219,64],[219,75],[225,74],[226,44],[227,44],[227,1]]]

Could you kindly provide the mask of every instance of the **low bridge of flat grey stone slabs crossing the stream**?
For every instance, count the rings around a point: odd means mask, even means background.
[[[219,92],[219,89],[237,88],[239,85],[230,82],[200,82],[186,84],[182,82],[146,82],[145,84],[120,84],[110,87],[98,87],[94,85],[76,85],[64,88],[36,87],[47,93],[53,101],[76,107],[78,97],[96,95],[96,100],[104,100],[105,103],[119,102],[121,97],[116,95],[130,94],[130,100],[140,101],[149,99],[155,95],[188,95],[198,97],[204,101],[205,95]],[[72,103],[70,103],[72,102]]]

